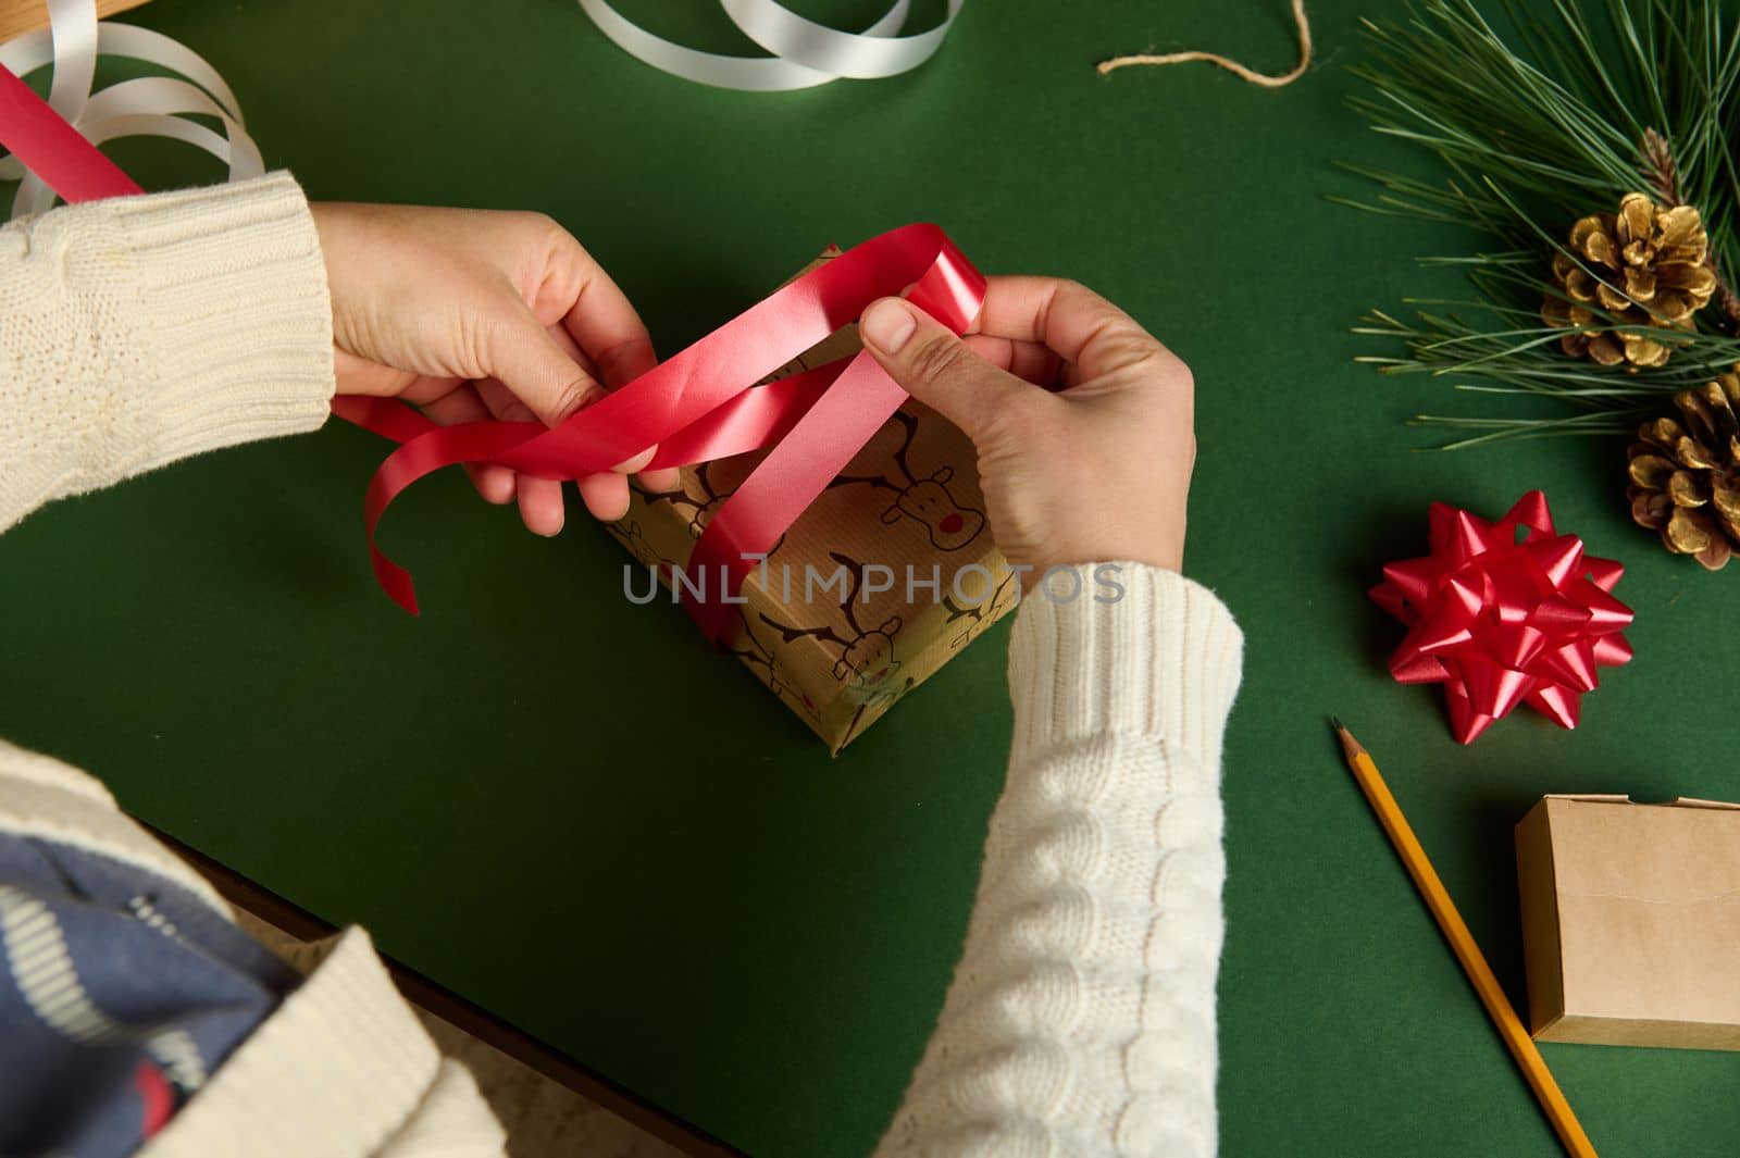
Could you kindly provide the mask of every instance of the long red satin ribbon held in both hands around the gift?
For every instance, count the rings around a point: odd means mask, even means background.
[[[0,144],[68,202],[141,191],[3,66]],[[980,313],[985,278],[940,228],[893,230],[785,285],[555,429],[536,423],[435,426],[395,400],[334,398],[336,416],[402,443],[374,473],[364,497],[376,579],[393,602],[416,614],[411,576],[376,546],[374,532],[405,487],[444,466],[494,464],[538,478],[574,480],[609,471],[654,443],[659,450],[652,468],[771,445],[713,515],[689,560],[689,574],[705,584],[705,598],[686,588],[684,602],[712,638],[727,642],[736,629],[729,603],[753,570],[755,556],[780,541],[907,400],[867,353],[769,386],[755,383],[856,322],[877,297],[901,292],[962,332]]]

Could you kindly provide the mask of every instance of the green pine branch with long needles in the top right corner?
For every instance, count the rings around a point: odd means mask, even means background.
[[[1550,261],[1564,254],[1571,224],[1613,212],[1632,191],[1696,205],[1719,270],[1740,273],[1740,162],[1730,141],[1740,130],[1740,37],[1723,5],[1709,0],[1552,0],[1550,14],[1496,0],[1503,26],[1472,0],[1422,0],[1402,23],[1364,21],[1369,63],[1354,70],[1369,94],[1352,106],[1375,132],[1432,153],[1441,183],[1342,163],[1376,186],[1369,200],[1329,200],[1383,216],[1462,224],[1491,238],[1486,252],[1425,256],[1455,266],[1477,290],[1462,301],[1416,299],[1402,322],[1371,311],[1355,334],[1399,344],[1402,356],[1357,362],[1383,374],[1432,374],[1474,396],[1531,395],[1571,407],[1557,419],[1420,416],[1422,426],[1474,431],[1444,449],[1516,438],[1608,436],[1634,429],[1688,386],[1740,362],[1735,337],[1712,303],[1695,334],[1623,325],[1670,343],[1662,367],[1627,370],[1571,358],[1563,330],[1540,318],[1545,297],[1561,297]],[[1660,134],[1672,156],[1674,188],[1646,156],[1644,136]],[[1615,287],[1616,289],[1616,287]]]

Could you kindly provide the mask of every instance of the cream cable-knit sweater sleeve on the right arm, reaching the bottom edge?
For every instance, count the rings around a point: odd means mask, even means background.
[[[1126,563],[1121,582],[1115,603],[1018,612],[1009,781],[879,1158],[1215,1155],[1220,748],[1242,636],[1181,576]]]

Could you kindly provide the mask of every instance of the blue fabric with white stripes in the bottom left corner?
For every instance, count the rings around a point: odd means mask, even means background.
[[[0,833],[0,1155],[134,1153],[296,981],[181,885]]]

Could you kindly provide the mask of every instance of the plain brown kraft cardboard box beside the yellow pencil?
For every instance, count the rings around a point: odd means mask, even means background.
[[[1740,1050],[1740,805],[1545,796],[1516,842],[1536,1040]]]

